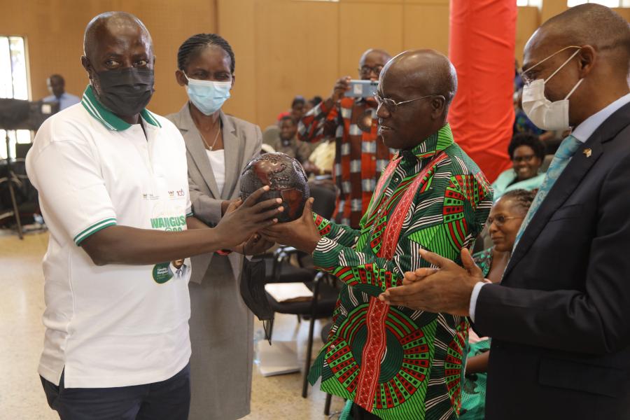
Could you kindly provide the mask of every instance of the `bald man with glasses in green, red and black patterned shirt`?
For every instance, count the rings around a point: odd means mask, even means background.
[[[313,254],[342,281],[328,342],[309,379],[353,400],[358,419],[456,419],[468,321],[378,299],[427,249],[461,264],[492,204],[489,183],[447,123],[455,69],[433,50],[407,51],[381,72],[379,136],[399,152],[384,170],[360,230],[312,215],[263,231]],[[315,223],[313,223],[315,221]]]

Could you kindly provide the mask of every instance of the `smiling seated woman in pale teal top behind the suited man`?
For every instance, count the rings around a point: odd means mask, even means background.
[[[533,134],[517,134],[512,137],[507,153],[512,160],[512,169],[502,172],[492,184],[494,200],[511,190],[538,190],[545,179],[539,173],[545,159],[545,145]]]

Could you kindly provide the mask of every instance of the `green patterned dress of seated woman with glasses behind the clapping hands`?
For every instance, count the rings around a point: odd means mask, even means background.
[[[484,278],[488,278],[490,267],[492,267],[492,250],[479,251],[472,255],[475,264],[482,269]],[[472,343],[468,346],[467,359],[472,356],[479,356],[490,350],[490,340],[483,339],[480,342]],[[461,393],[461,420],[483,420],[486,411],[486,381],[487,372],[470,373],[465,375]]]

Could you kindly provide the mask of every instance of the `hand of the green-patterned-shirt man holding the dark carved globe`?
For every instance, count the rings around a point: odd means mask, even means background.
[[[314,201],[313,197],[307,200],[306,204],[304,204],[302,217],[293,222],[270,225],[260,230],[260,235],[267,241],[293,246],[293,248],[305,253],[313,253],[318,241],[321,239],[319,230],[313,220],[312,207]]]

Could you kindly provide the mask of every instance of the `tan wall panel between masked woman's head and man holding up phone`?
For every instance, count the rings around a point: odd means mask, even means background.
[[[295,94],[332,90],[339,77],[337,5],[261,0],[255,10],[256,116],[266,127]]]

